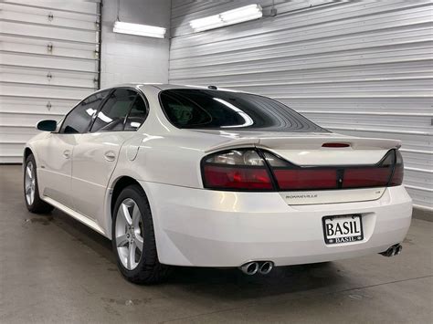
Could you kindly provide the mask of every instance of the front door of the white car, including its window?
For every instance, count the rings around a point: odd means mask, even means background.
[[[58,131],[49,134],[44,145],[39,145],[39,188],[44,196],[68,207],[72,206],[70,177],[77,135],[89,130],[92,116],[107,94],[108,91],[100,91],[82,100],[69,111],[58,126]]]

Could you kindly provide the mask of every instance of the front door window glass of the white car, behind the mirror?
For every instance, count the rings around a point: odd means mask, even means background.
[[[69,112],[60,128],[61,133],[78,134],[88,131],[92,117],[98,111],[100,102],[110,91],[100,91],[82,100]]]

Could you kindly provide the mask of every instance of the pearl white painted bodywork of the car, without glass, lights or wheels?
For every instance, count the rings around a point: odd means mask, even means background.
[[[131,177],[146,193],[160,261],[168,265],[239,267],[249,260],[276,266],[312,263],[385,251],[403,241],[412,202],[403,186],[290,193],[208,190],[200,161],[210,152],[258,147],[300,165],[379,162],[399,141],[335,133],[181,130],[164,115],[158,94],[172,85],[128,85],[149,102],[138,131],[58,134],[28,141],[37,161],[40,197],[111,238],[111,195]],[[335,151],[324,141],[351,143]],[[293,192],[300,194],[299,192]],[[306,197],[314,193],[317,199]],[[364,240],[327,246],[322,217],[362,214]]]

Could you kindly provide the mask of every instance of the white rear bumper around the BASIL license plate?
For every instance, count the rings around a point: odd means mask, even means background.
[[[290,206],[280,193],[142,185],[159,259],[177,266],[239,267],[252,260],[287,266],[375,254],[403,241],[412,214],[403,186],[375,201]],[[362,214],[364,240],[325,244],[322,217],[341,214]]]

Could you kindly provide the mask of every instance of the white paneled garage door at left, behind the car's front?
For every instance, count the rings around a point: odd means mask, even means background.
[[[22,162],[38,120],[99,87],[99,1],[0,4],[0,163]]]

